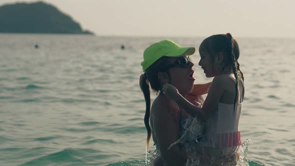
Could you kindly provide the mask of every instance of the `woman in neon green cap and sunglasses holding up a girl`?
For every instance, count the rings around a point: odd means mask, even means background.
[[[187,113],[165,96],[161,88],[163,84],[170,83],[190,102],[196,105],[203,103],[200,95],[207,93],[210,83],[193,85],[193,63],[189,55],[194,51],[194,47],[180,47],[170,40],[156,42],[144,50],[141,62],[144,73],[140,75],[139,84],[146,103],[146,151],[151,135],[159,151],[154,165],[184,165],[188,158],[189,154],[179,143],[168,148],[180,138]],[[158,94],[151,108],[149,84]]]

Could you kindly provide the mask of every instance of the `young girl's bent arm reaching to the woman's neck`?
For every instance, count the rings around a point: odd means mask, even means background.
[[[191,116],[198,116],[198,118],[206,120],[213,110],[215,110],[223,94],[224,85],[226,83],[227,82],[224,81],[222,76],[214,77],[202,108],[199,108],[186,100],[181,94],[179,94],[176,87],[172,86],[171,84],[166,83],[163,86],[163,93],[173,99]]]

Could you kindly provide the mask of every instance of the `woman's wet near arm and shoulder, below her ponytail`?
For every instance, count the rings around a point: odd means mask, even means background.
[[[155,100],[151,107],[151,126],[160,155],[167,165],[184,165],[186,153],[180,150],[178,144],[168,149],[179,138],[179,120],[173,111],[177,109],[177,104],[164,95],[162,97]]]

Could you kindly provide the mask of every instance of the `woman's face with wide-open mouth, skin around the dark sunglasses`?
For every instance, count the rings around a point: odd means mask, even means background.
[[[180,58],[180,59],[179,59]],[[182,58],[182,59],[181,59]],[[182,57],[173,57],[170,60],[171,63],[181,60],[185,61],[187,59],[187,65],[186,66],[173,66],[168,69],[168,73],[170,74],[170,84],[175,86],[179,93],[182,95],[188,94],[192,90],[194,77],[193,77],[193,62],[191,61],[191,58],[187,56]]]

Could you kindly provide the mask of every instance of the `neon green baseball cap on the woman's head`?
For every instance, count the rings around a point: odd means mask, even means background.
[[[192,55],[194,47],[181,47],[171,40],[161,40],[151,44],[143,52],[142,70],[145,71],[152,63],[162,56],[187,56]]]

